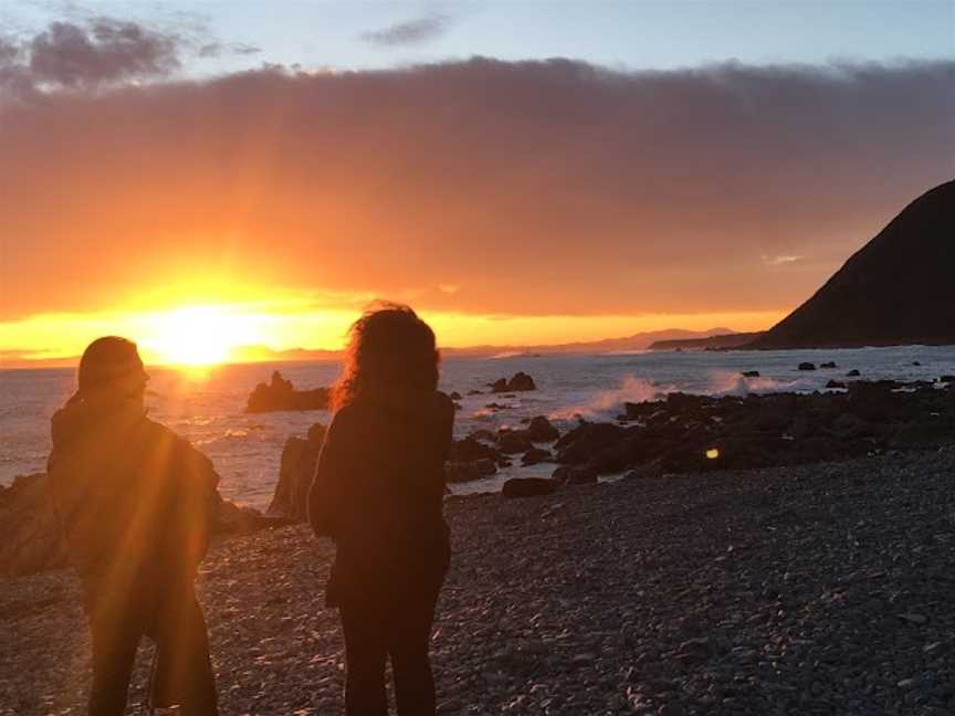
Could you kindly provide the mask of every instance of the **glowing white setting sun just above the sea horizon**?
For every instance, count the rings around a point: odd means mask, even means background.
[[[185,306],[149,318],[141,343],[157,362],[209,366],[225,362],[233,349],[254,340],[250,325],[220,306]]]

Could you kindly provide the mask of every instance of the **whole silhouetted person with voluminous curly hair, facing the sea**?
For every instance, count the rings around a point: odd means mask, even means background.
[[[389,656],[398,714],[434,714],[428,644],[450,561],[442,509],[454,423],[438,365],[428,324],[386,304],[351,326],[333,391],[308,518],[336,546],[326,606],[342,617],[349,716],[388,713]]]

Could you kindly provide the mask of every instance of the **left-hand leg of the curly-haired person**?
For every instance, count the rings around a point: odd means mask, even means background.
[[[385,659],[387,647],[381,619],[368,609],[343,603],[345,633],[345,714],[387,716]]]

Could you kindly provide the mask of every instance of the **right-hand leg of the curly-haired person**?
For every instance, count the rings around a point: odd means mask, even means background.
[[[398,716],[434,714],[434,677],[428,646],[434,622],[438,592],[428,591],[409,599],[405,609],[393,614],[389,629],[388,652],[395,673],[395,697]]]

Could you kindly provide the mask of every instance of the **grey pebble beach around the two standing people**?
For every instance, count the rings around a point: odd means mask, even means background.
[[[441,713],[951,714],[953,480],[944,448],[450,498]],[[330,557],[304,526],[213,545],[223,714],[342,712]],[[0,714],[82,713],[72,575],[0,581]]]

